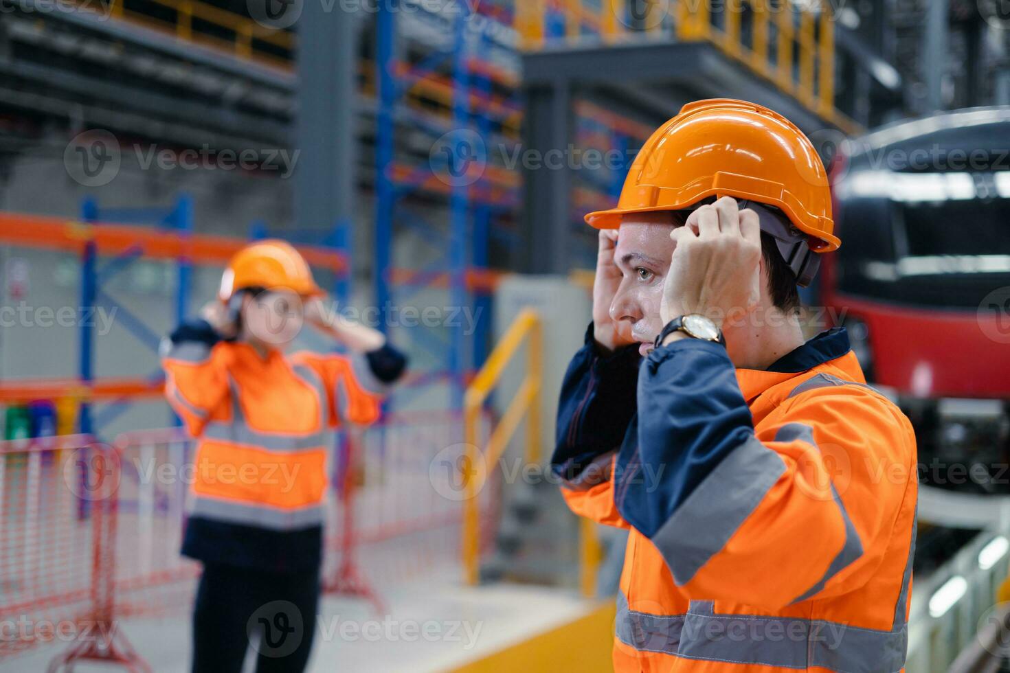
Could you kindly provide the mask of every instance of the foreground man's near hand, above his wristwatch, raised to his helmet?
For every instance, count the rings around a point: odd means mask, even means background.
[[[663,290],[664,324],[700,313],[720,327],[761,299],[761,226],[752,210],[723,197],[702,206],[670,234],[677,243]]]

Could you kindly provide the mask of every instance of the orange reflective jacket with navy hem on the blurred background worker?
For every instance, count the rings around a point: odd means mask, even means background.
[[[375,421],[382,381],[364,356],[263,357],[209,335],[205,323],[181,327],[163,360],[166,397],[198,439],[183,553],[316,567],[332,430]]]

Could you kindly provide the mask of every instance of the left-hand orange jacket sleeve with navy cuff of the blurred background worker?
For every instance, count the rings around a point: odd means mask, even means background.
[[[165,397],[194,436],[228,397],[227,371],[212,356],[218,341],[209,323],[196,320],[180,325],[162,344]]]

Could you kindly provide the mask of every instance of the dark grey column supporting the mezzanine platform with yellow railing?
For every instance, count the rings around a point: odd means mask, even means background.
[[[567,273],[572,244],[572,93],[564,79],[524,89],[522,122],[524,266],[531,273]]]

